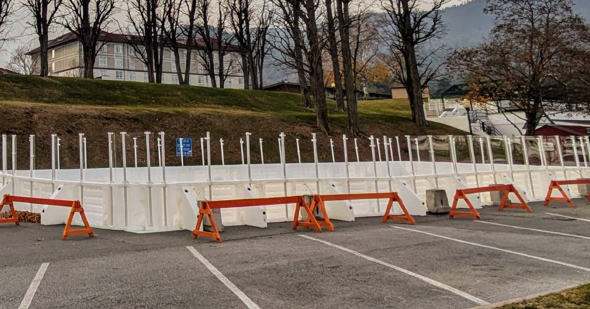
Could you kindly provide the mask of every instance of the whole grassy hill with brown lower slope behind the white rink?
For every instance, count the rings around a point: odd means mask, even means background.
[[[211,132],[214,163],[221,161],[219,138],[224,139],[225,161],[241,161],[239,139],[247,131],[253,133],[254,162],[260,160],[258,138],[264,139],[265,162],[278,161],[280,132],[287,134],[288,161],[296,159],[296,152],[290,151],[295,149],[295,138],[301,140],[303,160],[310,161],[313,155],[309,139],[312,132],[319,133],[314,111],[301,105],[299,95],[283,92],[2,74],[0,103],[4,118],[0,131],[19,135],[20,154],[28,153],[24,135],[35,134],[37,149],[43,149],[37,154],[39,167],[50,162],[45,150],[49,148],[45,147],[52,133],[62,138],[64,167],[77,166],[78,132],[84,132],[89,143],[89,166],[106,166],[106,132],[120,136],[118,132],[126,131],[145,145],[144,131],[164,131],[171,151],[166,157],[171,164],[178,161],[170,147],[174,138],[192,137],[194,147],[199,148],[199,138],[206,131]],[[339,150],[342,134],[348,133],[346,113],[337,111],[335,102],[329,102],[329,108],[334,136],[319,135],[322,161],[331,160],[329,138],[334,139],[337,159],[342,157]],[[438,123],[431,123],[426,129],[418,128],[411,122],[405,100],[360,101],[359,115],[363,132],[381,138],[383,135],[464,134]],[[359,145],[361,157],[371,158],[368,141],[359,139]],[[200,164],[199,151],[195,149],[194,158],[185,162]],[[349,149],[349,157],[352,155],[353,149]],[[20,159],[19,166],[28,166],[26,160],[21,163]]]

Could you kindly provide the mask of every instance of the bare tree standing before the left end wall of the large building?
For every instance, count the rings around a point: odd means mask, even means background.
[[[64,7],[60,23],[82,44],[84,78],[92,79],[97,53],[107,43],[105,30],[112,21],[116,0],[66,0]]]

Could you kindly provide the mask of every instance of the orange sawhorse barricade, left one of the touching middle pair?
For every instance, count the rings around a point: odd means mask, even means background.
[[[309,205],[306,203],[305,199],[302,196],[286,196],[286,197],[263,197],[259,199],[238,199],[238,200],[218,200],[218,201],[200,201],[201,206],[199,207],[199,215],[196,220],[195,229],[192,231],[193,238],[197,238],[198,236],[204,236],[208,238],[212,238],[217,240],[217,242],[221,242],[221,235],[219,235],[219,231],[217,229],[217,225],[215,225],[215,220],[213,217],[213,213],[211,212],[212,209],[221,209],[221,208],[232,208],[232,207],[251,207],[251,206],[270,206],[270,205],[280,205],[280,204],[295,204],[295,218],[293,219],[293,229],[297,229],[297,226],[306,226],[306,227],[313,227],[316,232],[322,232],[322,227],[320,226],[321,221],[317,220],[313,216],[313,212],[310,209]],[[303,209],[307,213],[307,219],[309,223],[301,222],[299,220],[299,212],[300,208]],[[321,208],[321,207],[320,207]],[[211,230],[212,232],[207,232],[201,229],[201,223],[203,222],[203,218],[207,215],[209,218],[209,222],[211,223]],[[326,217],[325,220],[329,219]],[[332,223],[330,223],[331,225]],[[326,223],[322,223],[322,225],[327,226]]]

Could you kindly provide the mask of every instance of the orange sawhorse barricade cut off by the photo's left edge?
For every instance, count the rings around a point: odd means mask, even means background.
[[[0,204],[0,211],[4,208],[4,206],[8,205],[10,208],[10,212],[12,217],[7,219],[0,219],[0,223],[15,223],[18,225],[18,216],[17,212],[14,210],[14,203],[31,203],[31,204],[43,204],[43,205],[51,205],[51,206],[63,206],[63,207],[70,207],[70,214],[68,216],[68,220],[65,223],[63,239],[66,240],[70,235],[79,235],[79,234],[88,234],[89,237],[94,236],[94,232],[90,227],[88,220],[86,219],[86,215],[84,214],[84,208],[80,204],[78,200],[57,200],[57,199],[42,199],[40,197],[28,197],[28,196],[13,196],[10,194],[4,194],[4,198]],[[74,219],[74,214],[79,213],[80,217],[82,218],[82,222],[84,223],[84,229],[71,229],[72,220]]]

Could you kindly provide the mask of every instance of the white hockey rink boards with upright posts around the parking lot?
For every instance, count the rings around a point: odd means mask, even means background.
[[[330,138],[313,135],[311,140],[293,137],[290,147],[285,147],[286,136],[281,134],[281,159],[273,161],[265,149],[263,163],[253,162],[253,158],[258,158],[259,152],[262,157],[263,149],[258,147],[271,142],[252,142],[250,135],[244,135],[237,144],[243,159],[237,164],[228,163],[227,152],[229,145],[238,141],[223,138],[222,144],[214,144],[210,135],[202,136],[201,141],[194,134],[189,136],[193,157],[178,157],[178,162],[171,165],[166,160],[171,161],[170,153],[175,147],[173,142],[165,144],[164,132],[109,132],[105,136],[75,137],[52,134],[49,152],[36,149],[33,135],[27,136],[28,151],[22,136],[17,147],[17,135],[2,135],[0,194],[79,200],[93,227],[158,232],[194,230],[199,200],[395,191],[409,215],[415,217],[426,215],[425,195],[429,189],[445,190],[451,204],[458,188],[513,184],[526,201],[541,201],[545,200],[552,180],[590,178],[588,136],[429,135],[352,141],[343,135],[336,145],[327,143]],[[324,155],[319,160],[317,144],[322,141],[334,155],[327,156],[328,159]],[[548,146],[550,143],[553,148]],[[225,149],[225,158],[223,150],[221,155],[216,154],[221,160],[212,158],[211,148],[220,146]],[[97,165],[87,157],[87,148],[92,147],[101,147],[99,152],[108,154],[106,165]],[[364,157],[360,153],[362,148],[368,150]],[[290,154],[290,160],[284,160],[285,152]],[[313,160],[302,160],[304,152],[313,153]],[[96,153],[94,149],[93,154]],[[168,156],[163,155],[166,153]],[[41,155],[51,157],[50,167],[36,167],[35,160]],[[179,163],[181,159],[184,166]],[[27,160],[28,166],[17,166],[17,161]],[[579,196],[575,186],[570,189],[569,196]],[[491,200],[482,194],[481,200],[472,200],[472,204],[478,209],[491,204]],[[224,208],[221,220],[224,226],[266,227],[268,223],[292,222],[295,206],[296,203]],[[325,203],[330,220],[346,221],[382,217],[386,206],[384,199]],[[58,210],[62,207],[30,203],[14,203],[13,207],[41,213],[42,225],[67,223],[63,219],[67,213]],[[461,202],[457,207],[467,206]],[[78,218],[71,224],[84,226]]]

